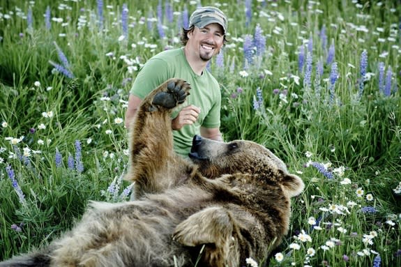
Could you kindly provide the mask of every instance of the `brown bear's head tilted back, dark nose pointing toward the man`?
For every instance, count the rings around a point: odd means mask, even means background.
[[[189,157],[207,178],[223,174],[257,175],[280,183],[289,197],[300,194],[305,187],[301,178],[289,174],[280,158],[255,142],[235,140],[225,143],[195,135]]]

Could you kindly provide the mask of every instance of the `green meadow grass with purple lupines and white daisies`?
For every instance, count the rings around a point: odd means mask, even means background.
[[[202,1],[229,17],[222,60],[208,67],[222,88],[225,139],[264,144],[306,185],[290,234],[266,260],[401,266],[400,5],[252,1],[246,15],[248,3]],[[129,197],[130,86],[147,59],[180,46],[197,2],[127,1],[128,14],[123,4],[0,7],[0,259],[52,241],[89,199]],[[260,40],[258,27],[265,41],[244,47]]]

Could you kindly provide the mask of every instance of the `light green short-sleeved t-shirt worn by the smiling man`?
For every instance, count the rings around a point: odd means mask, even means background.
[[[183,48],[160,52],[146,61],[139,71],[130,93],[144,99],[153,89],[170,78],[186,80],[190,86],[190,95],[183,104],[195,105],[201,109],[197,121],[192,125],[184,125],[181,130],[174,130],[174,150],[183,156],[188,156],[192,145],[192,137],[199,135],[200,127],[220,127],[221,92],[217,80],[204,70],[202,75],[194,73],[190,67]],[[183,107],[184,107],[183,106]],[[179,110],[175,110],[175,118]]]

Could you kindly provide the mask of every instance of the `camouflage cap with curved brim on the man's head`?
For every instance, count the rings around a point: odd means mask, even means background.
[[[197,10],[190,16],[189,26],[197,26],[199,29],[204,28],[204,26],[218,23],[222,26],[224,34],[227,33],[227,17],[222,13],[222,10],[215,8],[213,6],[204,6],[202,8],[197,8]]]

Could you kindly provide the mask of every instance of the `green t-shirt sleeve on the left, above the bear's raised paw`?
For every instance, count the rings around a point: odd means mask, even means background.
[[[130,93],[144,99],[153,89],[167,81],[169,77],[167,63],[162,59],[149,59],[139,70]]]

